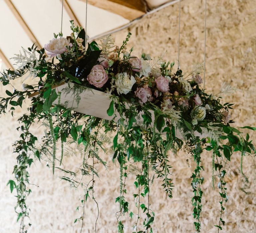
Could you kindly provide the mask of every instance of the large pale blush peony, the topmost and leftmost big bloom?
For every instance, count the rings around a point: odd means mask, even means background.
[[[61,59],[60,54],[67,51],[67,47],[72,47],[70,40],[65,37],[53,38],[44,46],[44,49],[47,51],[47,55],[51,58],[57,56],[58,59]]]

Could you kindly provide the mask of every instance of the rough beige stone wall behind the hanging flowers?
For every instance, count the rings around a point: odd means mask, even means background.
[[[178,39],[178,4],[169,6],[155,14],[145,17],[131,26],[132,37],[129,46],[134,47],[134,55],[141,52],[152,54],[152,57],[162,56],[169,61],[177,60]],[[114,34],[117,44],[125,38],[128,30]],[[181,12],[180,63],[183,71],[191,71],[196,63],[203,62],[204,50],[204,1],[184,0]],[[236,103],[231,112],[236,126],[256,124],[256,4],[254,0],[208,1],[207,10],[207,63],[206,89],[208,93],[217,94],[223,82],[231,83],[240,89],[235,95],[224,97],[225,101]],[[177,63],[177,62],[176,62]],[[20,84],[16,84],[20,85]],[[4,88],[1,87],[1,96]],[[23,112],[20,111],[19,114]],[[15,118],[4,116],[0,119],[0,232],[18,232],[16,223],[15,197],[6,187],[15,164],[15,154],[12,154],[12,142],[18,138],[18,127]],[[33,130],[38,131],[37,125]],[[43,130],[39,128],[39,130]],[[247,130],[244,130],[247,132]],[[251,133],[252,134],[252,133]],[[256,142],[256,134],[252,136]],[[95,196],[99,203],[100,215],[98,232],[117,232],[115,213],[118,205],[119,168],[113,164],[111,154],[102,156],[107,161],[105,168],[99,168],[100,180],[95,183]],[[184,153],[170,154],[173,166],[173,199],[168,199],[160,187],[160,181],[155,180],[151,188],[151,208],[156,213],[154,232],[193,232],[193,217],[191,206],[191,187],[189,178],[193,171],[193,160]],[[186,160],[188,159],[188,162]],[[65,157],[66,168],[75,169],[79,166],[81,156]],[[211,154],[203,155],[202,164],[205,168],[203,176],[203,210],[202,232],[217,232],[214,225],[219,218],[219,194],[211,186]],[[227,165],[227,192],[229,201],[225,203],[223,219],[226,225],[223,232],[254,233],[256,232],[256,187],[255,164],[251,157],[244,158],[244,172],[250,176],[250,191],[245,194],[239,188],[244,187],[243,178],[239,173],[240,158],[233,155],[232,163]],[[69,184],[60,181],[59,172],[53,176],[46,163],[37,162],[30,169],[32,193],[28,199],[31,208],[32,226],[29,232],[80,232],[80,225],[74,224],[74,219],[81,216],[76,206],[81,205],[79,197],[83,190],[70,188]],[[131,177],[131,175],[130,175]],[[131,195],[133,180],[128,181],[127,190]],[[131,206],[134,201],[129,200]],[[94,232],[96,205],[93,201],[86,204],[83,232]],[[128,217],[127,217],[128,219]],[[132,221],[124,222],[125,232],[132,232]]]

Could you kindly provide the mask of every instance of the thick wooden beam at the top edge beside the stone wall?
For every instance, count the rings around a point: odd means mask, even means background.
[[[80,0],[86,2],[86,0]],[[140,0],[88,0],[88,4],[96,6],[98,8],[110,11],[117,15],[121,15],[125,19],[130,21],[145,14],[145,11],[141,8],[136,8],[136,5],[132,5],[131,2],[139,3]]]

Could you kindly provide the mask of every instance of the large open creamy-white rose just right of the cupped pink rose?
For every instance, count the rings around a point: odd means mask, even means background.
[[[116,90],[119,94],[127,94],[132,90],[132,86],[136,83],[134,77],[129,75],[125,72],[122,74],[116,75]]]

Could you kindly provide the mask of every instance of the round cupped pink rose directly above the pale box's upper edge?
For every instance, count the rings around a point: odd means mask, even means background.
[[[102,65],[95,65],[87,76],[87,80],[91,85],[101,88],[108,81],[108,75]]]

